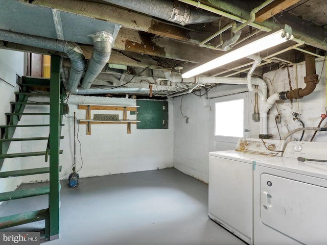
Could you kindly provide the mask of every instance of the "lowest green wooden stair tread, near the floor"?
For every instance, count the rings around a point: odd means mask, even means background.
[[[48,208],[0,217],[0,229],[31,223],[38,220],[47,219],[48,217]]]

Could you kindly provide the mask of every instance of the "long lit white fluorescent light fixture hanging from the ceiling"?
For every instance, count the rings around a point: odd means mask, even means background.
[[[191,78],[198,74],[201,74],[205,71],[217,68],[219,66],[228,64],[230,62],[236,61],[243,57],[258,53],[260,51],[266,50],[267,48],[276,46],[283,42],[293,39],[293,35],[291,34],[291,28],[289,26],[285,26],[285,29],[274,32],[268,36],[265,36],[261,39],[253,41],[249,44],[246,44],[236,50],[233,50],[225,55],[222,55],[212,61],[209,61],[203,65],[195,67],[188,72],[182,74],[182,78]]]

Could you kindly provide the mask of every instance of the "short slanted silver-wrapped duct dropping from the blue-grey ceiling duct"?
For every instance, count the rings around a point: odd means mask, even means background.
[[[110,33],[102,31],[94,34],[94,48],[92,57],[88,63],[81,87],[90,88],[93,81],[98,77],[103,67],[109,61],[113,37]]]

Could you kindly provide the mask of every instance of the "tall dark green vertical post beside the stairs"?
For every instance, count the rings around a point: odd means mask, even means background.
[[[59,238],[60,57],[51,56],[50,79],[50,240]]]

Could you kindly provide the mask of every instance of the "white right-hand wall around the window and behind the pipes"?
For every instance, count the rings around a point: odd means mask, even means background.
[[[307,127],[317,127],[320,121],[320,115],[325,113],[326,96],[326,68],[322,70],[322,61],[316,64],[316,73],[321,75],[319,84],[315,91],[301,100],[278,102],[277,106],[282,115],[282,123],[278,125],[282,137],[289,131],[301,127],[298,121],[293,121],[292,112],[299,112],[300,118],[305,122]],[[321,72],[322,71],[322,72]],[[305,87],[303,78],[305,77],[305,65],[299,64],[290,67],[290,76],[292,88]],[[268,84],[269,95],[276,92],[287,91],[289,89],[287,69],[282,68],[264,74],[264,80]],[[271,82],[270,82],[271,81]],[[297,81],[297,82],[296,82]],[[273,89],[272,89],[273,88]],[[242,85],[221,85],[212,89],[208,93],[208,97],[223,96],[244,91]],[[254,101],[253,94],[250,105],[250,118],[252,118]],[[208,124],[210,111],[209,99],[205,96],[198,97],[194,94],[184,95],[182,101],[182,112],[190,117],[190,123],[185,123],[185,118],[180,114],[181,97],[174,98],[174,167],[183,173],[200,179],[204,182],[208,181],[208,142],[209,134],[213,132]],[[273,139],[279,139],[278,131],[275,124],[276,106],[274,105],[268,115],[268,133]],[[324,122],[324,124],[327,120]],[[322,126],[324,125],[322,124]],[[213,125],[213,124],[211,124]],[[260,122],[250,121],[250,137],[259,138]],[[303,140],[310,140],[313,131],[307,131]],[[292,140],[299,140],[301,132],[292,135]],[[290,138],[289,138],[290,140]],[[315,141],[327,141],[327,132],[318,132]]]

